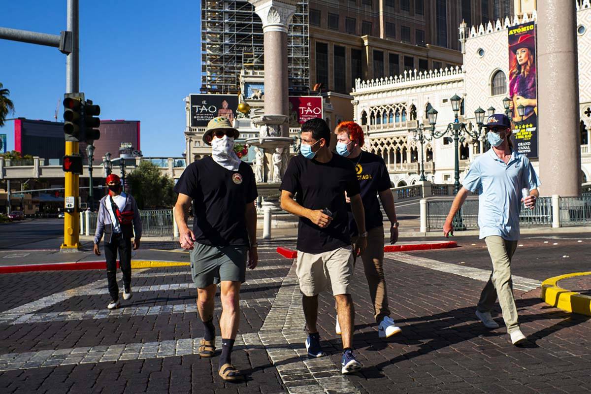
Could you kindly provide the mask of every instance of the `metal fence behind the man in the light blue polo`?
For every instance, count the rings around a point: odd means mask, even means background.
[[[562,199],[561,199],[562,200]],[[580,198],[579,198],[580,200]],[[587,199],[586,220],[591,221],[589,216],[589,200]],[[443,229],[447,214],[452,207],[453,200],[427,201],[427,231]],[[562,207],[562,202],[560,203]],[[562,208],[561,208],[562,209]],[[571,225],[581,224],[584,220],[584,214],[581,210],[576,210],[573,217],[578,218],[579,222]],[[583,217],[583,219],[580,219]],[[462,222],[467,230],[478,229],[478,200],[466,200],[462,205]],[[539,197],[534,209],[529,209],[521,204],[519,211],[520,226],[551,226],[552,225],[552,197]]]

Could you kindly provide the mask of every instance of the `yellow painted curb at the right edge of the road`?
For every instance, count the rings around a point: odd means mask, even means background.
[[[542,299],[546,304],[563,311],[591,316],[591,297],[558,287],[558,281],[574,276],[591,275],[588,272],[574,272],[554,276],[542,282]]]

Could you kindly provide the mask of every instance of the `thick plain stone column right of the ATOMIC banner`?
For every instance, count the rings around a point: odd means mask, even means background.
[[[574,1],[540,0],[537,11],[540,192],[580,196],[576,8]]]

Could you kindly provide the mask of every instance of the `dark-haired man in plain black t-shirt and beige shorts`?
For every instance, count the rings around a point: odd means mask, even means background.
[[[339,314],[343,355],[341,372],[361,368],[353,356],[353,301],[350,281],[353,253],[366,246],[365,214],[353,164],[330,152],[330,128],[323,119],[310,119],[301,126],[300,155],[293,157],[281,183],[281,208],[300,217],[297,235],[296,273],[303,294],[302,304],[309,336],[309,357],[325,355],[316,327],[318,294],[329,284]],[[359,229],[351,247],[345,192]],[[294,195],[296,200],[293,199]]]

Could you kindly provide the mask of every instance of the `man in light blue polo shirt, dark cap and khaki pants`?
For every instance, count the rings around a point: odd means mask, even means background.
[[[469,191],[478,193],[478,226],[480,239],[484,239],[492,259],[491,278],[486,282],[476,307],[476,316],[487,328],[498,328],[491,317],[496,298],[503,312],[503,320],[511,342],[525,340],[517,323],[517,307],[511,281],[511,258],[519,239],[519,210],[521,201],[533,209],[540,195],[540,179],[529,159],[514,151],[511,142],[511,122],[502,114],[495,114],[486,123],[489,151],[480,155],[470,166],[443,226],[447,237],[453,233],[453,217],[460,209]],[[521,196],[522,189],[529,194]]]

